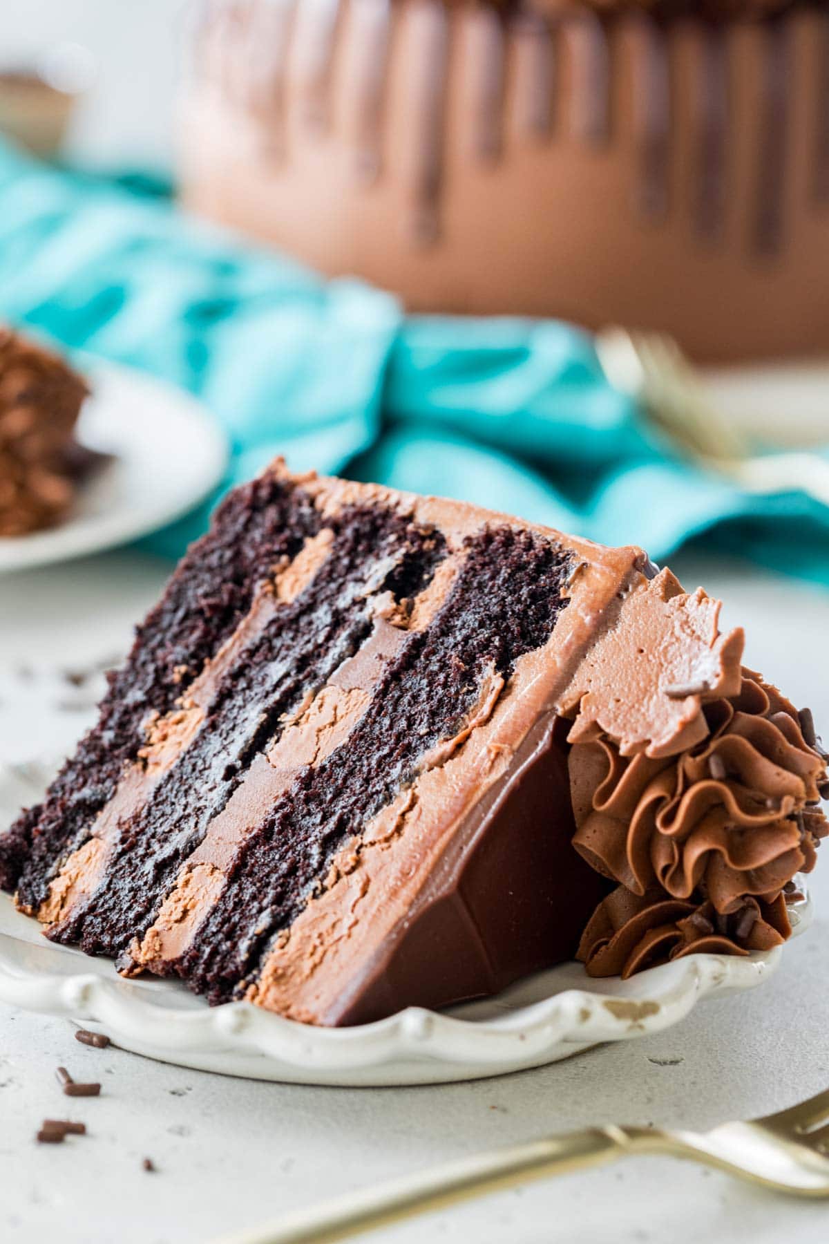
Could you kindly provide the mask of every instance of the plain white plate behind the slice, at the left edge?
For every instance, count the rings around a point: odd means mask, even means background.
[[[0,573],[99,552],[180,518],[219,484],[225,438],[189,393],[142,372],[83,360],[92,394],[78,440],[112,455],[81,485],[70,518],[48,531],[0,536]]]

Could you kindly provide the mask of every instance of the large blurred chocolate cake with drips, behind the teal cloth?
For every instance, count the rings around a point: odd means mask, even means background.
[[[198,211],[413,310],[829,350],[825,0],[211,0]]]

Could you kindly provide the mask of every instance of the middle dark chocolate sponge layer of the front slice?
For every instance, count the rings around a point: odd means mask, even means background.
[[[263,615],[262,624],[251,628],[252,634],[236,631],[232,662],[210,679],[211,694],[189,745],[160,780],[144,784],[152,789],[143,806],[112,825],[107,851],[96,857],[101,876],[88,904],[80,911],[72,906],[51,931],[55,940],[80,942],[89,954],[118,954],[132,935],[143,933],[179,863],[199,845],[255,756],[368,637],[372,596],[390,593],[396,601],[393,586],[411,590],[428,580],[440,551],[437,532],[393,510],[346,506],[324,521],[322,530],[332,536],[324,560],[293,600],[280,600],[278,588],[276,596],[266,592],[260,598],[255,608]],[[152,744],[148,751],[152,774]],[[297,826],[293,835],[303,830]],[[297,850],[292,836],[280,842],[282,851]],[[103,842],[103,835],[96,841]],[[87,889],[88,881],[86,870]]]

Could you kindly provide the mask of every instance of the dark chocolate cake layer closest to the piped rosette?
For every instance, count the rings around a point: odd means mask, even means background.
[[[232,877],[176,965],[211,1000],[244,991],[271,935],[290,927],[334,855],[552,634],[567,603],[567,552],[508,526],[467,536],[464,552],[445,605],[387,662],[347,743],[303,770],[240,847]]]

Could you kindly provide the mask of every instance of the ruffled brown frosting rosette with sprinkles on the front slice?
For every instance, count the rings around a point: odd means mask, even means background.
[[[579,944],[593,977],[768,950],[792,932],[794,875],[829,832],[812,715],[748,669],[737,694],[700,699],[706,738],[676,755],[621,755],[595,731],[570,750],[574,846],[619,883]]]

